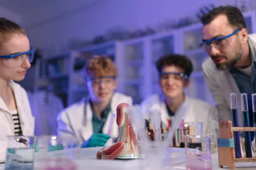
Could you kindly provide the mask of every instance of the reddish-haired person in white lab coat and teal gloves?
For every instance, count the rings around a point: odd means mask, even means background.
[[[116,107],[132,105],[132,98],[115,92],[118,76],[114,62],[104,56],[89,59],[81,71],[89,95],[58,115],[58,134],[73,136],[82,147],[104,146],[117,137]]]

